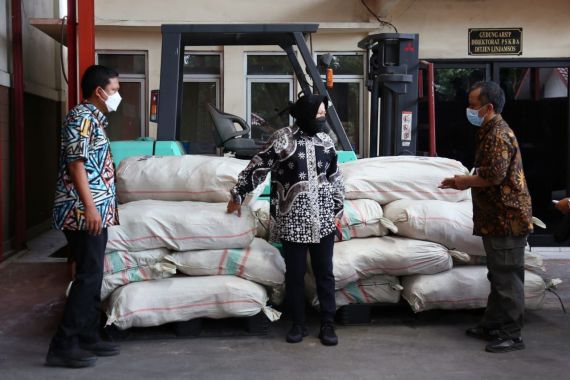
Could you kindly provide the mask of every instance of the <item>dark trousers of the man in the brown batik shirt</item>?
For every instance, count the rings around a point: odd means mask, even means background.
[[[483,237],[491,293],[481,326],[518,338],[524,322],[526,236]]]

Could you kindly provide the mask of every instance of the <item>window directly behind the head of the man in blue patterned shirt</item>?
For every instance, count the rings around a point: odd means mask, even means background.
[[[116,112],[108,115],[110,140],[133,140],[147,134],[146,112],[146,52],[114,52],[97,53],[100,65],[111,67],[119,72],[123,100]]]

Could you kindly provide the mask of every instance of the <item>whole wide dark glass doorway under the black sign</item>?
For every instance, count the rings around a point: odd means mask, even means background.
[[[562,215],[552,200],[570,194],[570,60],[434,63],[438,155],[473,167],[476,128],[465,118],[467,91],[479,80],[500,83],[506,95],[503,117],[521,147],[533,215],[547,225],[546,230],[535,228],[529,241],[532,245],[558,245],[552,234]]]

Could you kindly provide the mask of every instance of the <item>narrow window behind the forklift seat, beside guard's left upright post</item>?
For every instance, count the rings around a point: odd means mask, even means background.
[[[179,139],[190,154],[215,154],[214,125],[206,106],[220,108],[221,56],[186,53],[183,73]]]

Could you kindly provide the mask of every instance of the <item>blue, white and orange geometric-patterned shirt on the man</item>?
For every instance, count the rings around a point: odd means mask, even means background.
[[[71,180],[68,164],[83,160],[95,207],[103,228],[118,224],[115,196],[115,169],[111,147],[105,134],[107,118],[90,103],[75,106],[61,130],[59,173],[57,177],[53,227],[60,230],[86,230],[85,206]]]

